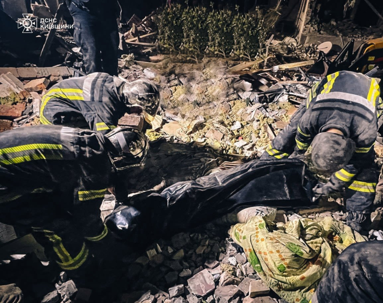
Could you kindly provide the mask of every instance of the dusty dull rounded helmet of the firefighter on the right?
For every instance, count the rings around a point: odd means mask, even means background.
[[[323,132],[311,143],[311,160],[320,171],[334,173],[344,167],[355,151],[355,142],[344,135]]]

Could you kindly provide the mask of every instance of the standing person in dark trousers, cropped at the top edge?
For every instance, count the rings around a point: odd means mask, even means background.
[[[67,0],[73,17],[74,35],[81,47],[87,74],[118,74],[121,8],[117,0]]]

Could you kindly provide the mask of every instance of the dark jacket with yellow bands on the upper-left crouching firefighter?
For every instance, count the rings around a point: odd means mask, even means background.
[[[85,119],[91,130],[109,132],[126,113],[125,103],[116,92],[122,82],[116,84],[113,76],[92,73],[53,85],[42,98],[41,123],[66,124]]]

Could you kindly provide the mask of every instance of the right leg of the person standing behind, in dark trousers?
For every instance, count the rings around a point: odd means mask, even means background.
[[[107,17],[101,23],[99,39],[99,49],[101,51],[102,71],[110,75],[118,75],[118,49],[120,36],[117,20],[114,16]]]

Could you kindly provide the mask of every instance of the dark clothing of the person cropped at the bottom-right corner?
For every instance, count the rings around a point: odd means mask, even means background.
[[[383,302],[382,250],[383,241],[347,247],[324,274],[311,302]]]

